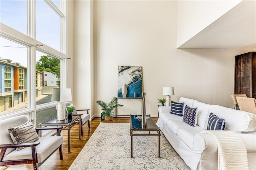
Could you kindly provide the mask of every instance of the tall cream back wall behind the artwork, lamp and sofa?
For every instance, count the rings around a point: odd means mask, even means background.
[[[162,87],[174,87],[172,100],[189,97],[204,103],[233,107],[234,56],[250,49],[177,49],[176,1],[94,1],[94,91],[87,67],[92,62],[88,31],[88,2],[75,1],[74,86],[76,102],[93,95],[92,114],[102,112],[96,100],[117,96],[118,65],[141,65],[147,114],[157,115]],[[84,32],[82,32],[84,31]],[[88,71],[88,72],[87,72]],[[81,85],[79,85],[82,83]],[[94,94],[93,94],[94,93]],[[128,100],[128,99],[127,99]],[[140,112],[140,104],[121,101],[118,114]]]

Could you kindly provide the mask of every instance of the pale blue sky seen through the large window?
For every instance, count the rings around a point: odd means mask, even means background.
[[[53,0],[60,8],[60,0]],[[27,1],[0,0],[0,22],[27,35]],[[60,17],[44,2],[36,0],[36,39],[54,49],[60,50]],[[0,37],[1,59],[27,67],[27,47]],[[36,51],[36,61],[45,55]]]

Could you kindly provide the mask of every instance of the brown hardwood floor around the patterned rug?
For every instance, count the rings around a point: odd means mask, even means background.
[[[156,122],[158,118],[153,118]],[[117,118],[116,120],[113,118],[113,121],[100,121],[100,118],[94,118],[90,122],[90,128],[88,128],[88,124],[86,123],[83,126],[84,136],[81,136],[81,140],[78,140],[79,136],[79,125],[76,125],[70,130],[70,150],[71,153],[68,154],[68,130],[62,130],[61,136],[63,136],[64,143],[62,144],[63,150],[63,160],[60,160],[58,150],[52,154],[46,162],[44,162],[40,167],[39,170],[66,170],[70,167],[72,162],[76,159],[86,142],[92,136],[93,132],[96,130],[100,122],[103,123],[129,123],[130,118]],[[2,168],[2,167],[1,167]],[[9,166],[6,167],[8,170],[32,170],[32,164],[25,164],[25,165],[17,165],[17,166]]]

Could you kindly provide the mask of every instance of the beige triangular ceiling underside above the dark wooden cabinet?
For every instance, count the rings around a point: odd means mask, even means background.
[[[256,0],[240,2],[178,48],[256,48]]]

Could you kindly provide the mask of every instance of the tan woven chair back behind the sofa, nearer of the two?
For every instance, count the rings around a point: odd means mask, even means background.
[[[250,97],[236,97],[240,111],[254,113],[256,115],[256,99]]]

